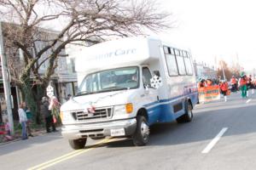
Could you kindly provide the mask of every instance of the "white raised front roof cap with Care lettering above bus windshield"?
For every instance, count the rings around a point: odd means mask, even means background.
[[[153,37],[126,37],[98,43],[75,53],[76,71],[148,64],[151,60],[159,59],[160,45],[160,40]]]

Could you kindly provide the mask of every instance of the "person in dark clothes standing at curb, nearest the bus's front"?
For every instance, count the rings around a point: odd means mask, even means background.
[[[55,123],[53,122],[53,116],[51,111],[49,111],[49,99],[47,97],[43,97],[41,105],[41,111],[44,115],[46,132],[50,133],[50,127],[52,127],[52,131],[56,132]]]

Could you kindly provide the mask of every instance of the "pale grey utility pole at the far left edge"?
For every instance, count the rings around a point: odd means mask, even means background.
[[[10,93],[10,85],[8,80],[8,66],[7,66],[7,59],[4,56],[3,52],[3,31],[2,31],[2,22],[0,22],[0,59],[2,65],[2,75],[3,75],[3,89],[4,89],[4,97],[6,100],[6,107],[7,107],[7,114],[8,114],[8,121],[10,126],[10,133],[12,135],[15,134],[14,128],[14,120],[13,120],[13,111],[12,111],[12,103],[11,103],[11,93]]]

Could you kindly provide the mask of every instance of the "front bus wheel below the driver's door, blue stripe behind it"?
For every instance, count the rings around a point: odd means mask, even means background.
[[[137,116],[137,128],[132,135],[132,141],[135,146],[143,146],[148,143],[149,126],[145,116]]]

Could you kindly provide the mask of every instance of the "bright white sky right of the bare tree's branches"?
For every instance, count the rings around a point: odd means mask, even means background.
[[[253,0],[160,0],[177,28],[162,36],[191,49],[194,59],[231,64],[239,57],[245,69],[256,68],[256,4]]]

